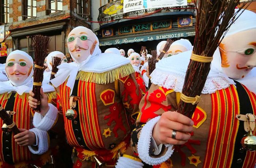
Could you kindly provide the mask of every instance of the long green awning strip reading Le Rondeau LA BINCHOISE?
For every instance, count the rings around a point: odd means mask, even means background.
[[[167,38],[181,38],[181,37],[188,37],[188,36],[195,36],[196,32],[194,30],[187,30],[187,31],[177,31],[177,32],[170,32],[170,33],[159,33],[148,35],[140,35],[139,37],[125,37],[125,38],[118,38],[115,37],[114,39],[99,39],[99,46],[106,46],[106,45],[121,45],[127,43],[134,43],[134,42],[145,42],[145,41],[153,41],[153,40],[160,40],[160,39],[167,39]]]

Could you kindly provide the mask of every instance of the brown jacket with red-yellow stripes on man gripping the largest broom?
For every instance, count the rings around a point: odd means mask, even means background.
[[[169,160],[154,167],[242,167],[253,168],[256,152],[242,148],[241,139],[246,134],[244,122],[237,114],[256,114],[256,95],[236,82],[212,94],[202,94],[193,114],[194,129],[191,139],[181,146],[174,146]],[[180,93],[152,84],[140,102],[140,114],[132,133],[132,148],[137,153],[139,135],[145,123],[161,116],[165,111],[175,111]],[[255,134],[255,130],[253,131]],[[163,147],[159,158],[166,152]]]

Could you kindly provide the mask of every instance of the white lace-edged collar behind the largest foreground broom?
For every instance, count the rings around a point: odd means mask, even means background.
[[[172,57],[163,58],[156,64],[155,70],[150,74],[151,82],[175,92],[181,92],[184,84],[192,50],[177,54]],[[235,84],[225,74],[210,70],[204,85],[203,94],[214,93]]]

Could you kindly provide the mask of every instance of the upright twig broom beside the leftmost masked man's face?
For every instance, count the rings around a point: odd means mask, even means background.
[[[37,108],[34,110],[40,112],[40,89],[44,78],[44,60],[47,56],[50,38],[43,35],[35,35],[32,40],[35,51],[33,93],[35,94],[34,98],[38,101]]]

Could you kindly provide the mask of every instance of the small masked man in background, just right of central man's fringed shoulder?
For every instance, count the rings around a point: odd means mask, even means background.
[[[138,53],[132,53],[130,56],[129,56],[129,60],[131,61],[131,64],[135,70],[135,78],[136,78],[136,81],[140,87],[140,91],[142,92],[143,95],[146,94],[147,92],[147,89],[146,89],[146,86],[145,86],[145,82],[143,81],[143,78],[142,78],[142,75],[141,75],[141,72],[139,70],[139,67],[140,67],[140,54]]]

